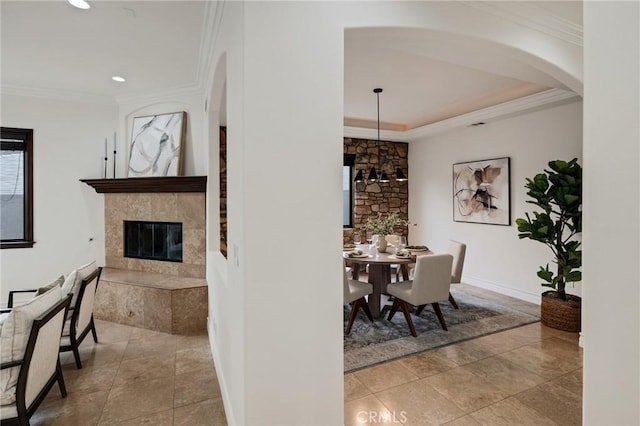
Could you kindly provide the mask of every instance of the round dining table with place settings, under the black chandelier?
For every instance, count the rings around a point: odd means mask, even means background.
[[[363,253],[362,257],[346,257],[346,260],[352,264],[353,279],[358,280],[360,277],[360,265],[369,265],[368,279],[369,284],[373,285],[373,293],[368,298],[369,309],[374,318],[380,318],[382,307],[381,302],[383,295],[387,292],[387,285],[391,283],[391,265],[399,265],[402,272],[402,279],[409,279],[409,269],[407,265],[415,263],[415,257],[397,257],[394,247],[389,247],[386,252],[379,253],[375,247],[372,249],[367,244],[356,245],[356,249]],[[430,254],[430,251],[415,254]],[[364,256],[366,255],[366,256]]]

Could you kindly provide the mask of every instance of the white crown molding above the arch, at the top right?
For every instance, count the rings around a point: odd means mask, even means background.
[[[581,24],[551,13],[536,5],[535,2],[461,1],[461,3],[577,46],[583,45],[584,35]]]

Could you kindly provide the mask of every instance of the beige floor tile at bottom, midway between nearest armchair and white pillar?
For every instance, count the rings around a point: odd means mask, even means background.
[[[165,377],[142,382],[129,382],[114,387],[100,417],[107,425],[173,408],[174,378]]]

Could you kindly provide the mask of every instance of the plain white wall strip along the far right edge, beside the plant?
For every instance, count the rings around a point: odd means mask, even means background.
[[[640,424],[638,22],[638,2],[584,2],[586,425]]]

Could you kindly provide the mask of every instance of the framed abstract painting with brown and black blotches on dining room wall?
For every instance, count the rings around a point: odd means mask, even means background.
[[[453,220],[510,225],[509,157],[453,165]]]

